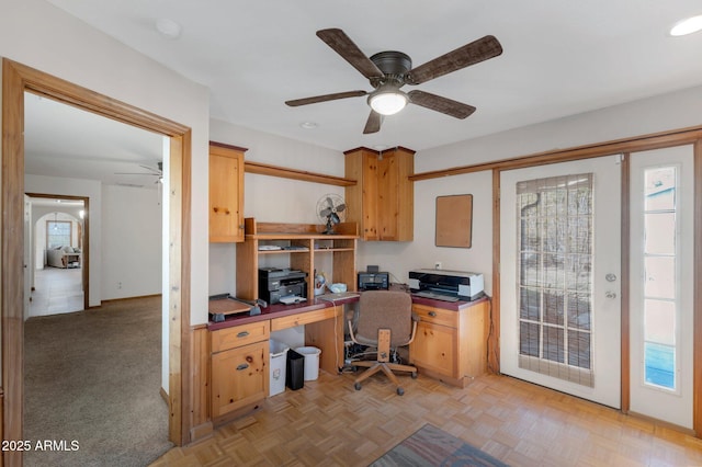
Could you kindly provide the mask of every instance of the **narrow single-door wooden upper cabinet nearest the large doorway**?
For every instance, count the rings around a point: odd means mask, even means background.
[[[210,143],[210,241],[244,241],[244,152]]]

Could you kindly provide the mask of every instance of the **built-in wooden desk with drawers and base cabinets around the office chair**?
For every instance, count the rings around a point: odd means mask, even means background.
[[[228,421],[260,405],[269,394],[271,332],[305,327],[305,345],[321,350],[319,367],[338,374],[344,365],[344,306],[359,295],[316,297],[296,305],[272,305],[260,315],[228,316],[211,322],[211,414]],[[486,371],[488,299],[446,303],[414,297],[421,317],[410,345],[420,374],[465,387]]]

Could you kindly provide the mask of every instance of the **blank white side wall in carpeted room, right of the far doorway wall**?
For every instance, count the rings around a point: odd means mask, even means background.
[[[102,299],[160,294],[158,191],[103,186],[102,212]]]

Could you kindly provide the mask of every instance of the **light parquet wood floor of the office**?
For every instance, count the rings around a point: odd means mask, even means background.
[[[702,440],[510,377],[400,379],[401,397],[382,375],[356,391],[320,372],[151,466],[367,466],[424,423],[511,466],[702,466]]]

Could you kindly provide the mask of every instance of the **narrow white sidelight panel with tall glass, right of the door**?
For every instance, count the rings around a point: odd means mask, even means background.
[[[631,410],[691,429],[693,149],[631,169]]]

